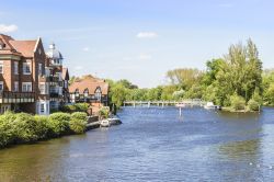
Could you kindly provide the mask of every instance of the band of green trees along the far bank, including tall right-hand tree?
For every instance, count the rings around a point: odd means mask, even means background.
[[[256,45],[248,39],[228,48],[224,57],[206,62],[205,70],[179,68],[165,75],[167,84],[140,89],[128,80],[110,83],[110,101],[181,101],[202,99],[229,112],[260,112],[274,105],[274,69],[263,70]]]

